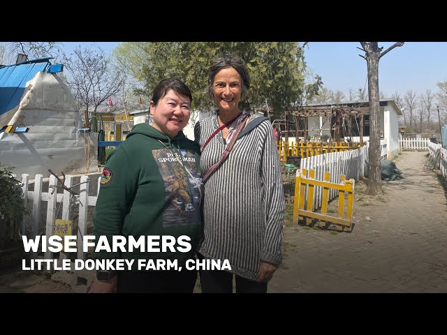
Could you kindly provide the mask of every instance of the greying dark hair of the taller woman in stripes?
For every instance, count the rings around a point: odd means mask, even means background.
[[[241,78],[241,100],[247,98],[247,94],[250,89],[250,75],[249,69],[245,62],[237,56],[233,55],[224,55],[222,57],[217,57],[212,60],[212,66],[208,68],[208,87],[207,93],[210,96],[211,101],[214,101],[214,93],[212,89],[212,84],[214,82],[214,77],[216,77],[217,73],[223,68],[234,68],[237,70]]]

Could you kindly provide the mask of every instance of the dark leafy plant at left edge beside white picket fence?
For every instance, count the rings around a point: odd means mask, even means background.
[[[23,205],[20,181],[12,170],[0,163],[0,269],[20,264],[24,254],[20,223],[29,214]]]

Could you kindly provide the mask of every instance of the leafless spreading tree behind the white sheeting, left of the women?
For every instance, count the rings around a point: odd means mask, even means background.
[[[85,110],[96,113],[101,103],[120,93],[124,75],[113,67],[110,58],[100,47],[78,46],[65,60],[70,76],[67,78],[75,99]]]

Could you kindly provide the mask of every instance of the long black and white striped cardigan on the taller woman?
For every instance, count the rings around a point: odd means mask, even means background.
[[[203,147],[219,128],[217,114],[197,122],[195,141]],[[202,174],[220,160],[221,132],[200,158]],[[220,167],[205,183],[203,235],[198,252],[205,258],[228,259],[231,272],[254,281],[260,261],[281,264],[284,192],[273,128],[254,115]]]

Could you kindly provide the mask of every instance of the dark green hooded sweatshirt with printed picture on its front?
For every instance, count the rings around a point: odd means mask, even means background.
[[[93,216],[96,245],[105,235],[112,248],[112,236],[145,237],[146,249],[129,252],[98,251],[96,259],[177,260],[184,266],[194,257],[200,235],[200,202],[203,195],[200,175],[200,147],[183,132],[170,138],[148,124],[137,124],[122,144],[110,154],[103,175]],[[177,160],[177,158],[179,160]],[[191,176],[192,174],[192,176]],[[159,252],[147,252],[147,235],[159,235]],[[163,252],[163,235],[175,239],[175,251]],[[191,250],[184,253],[177,237],[191,238]],[[186,245],[187,245],[186,244]]]

